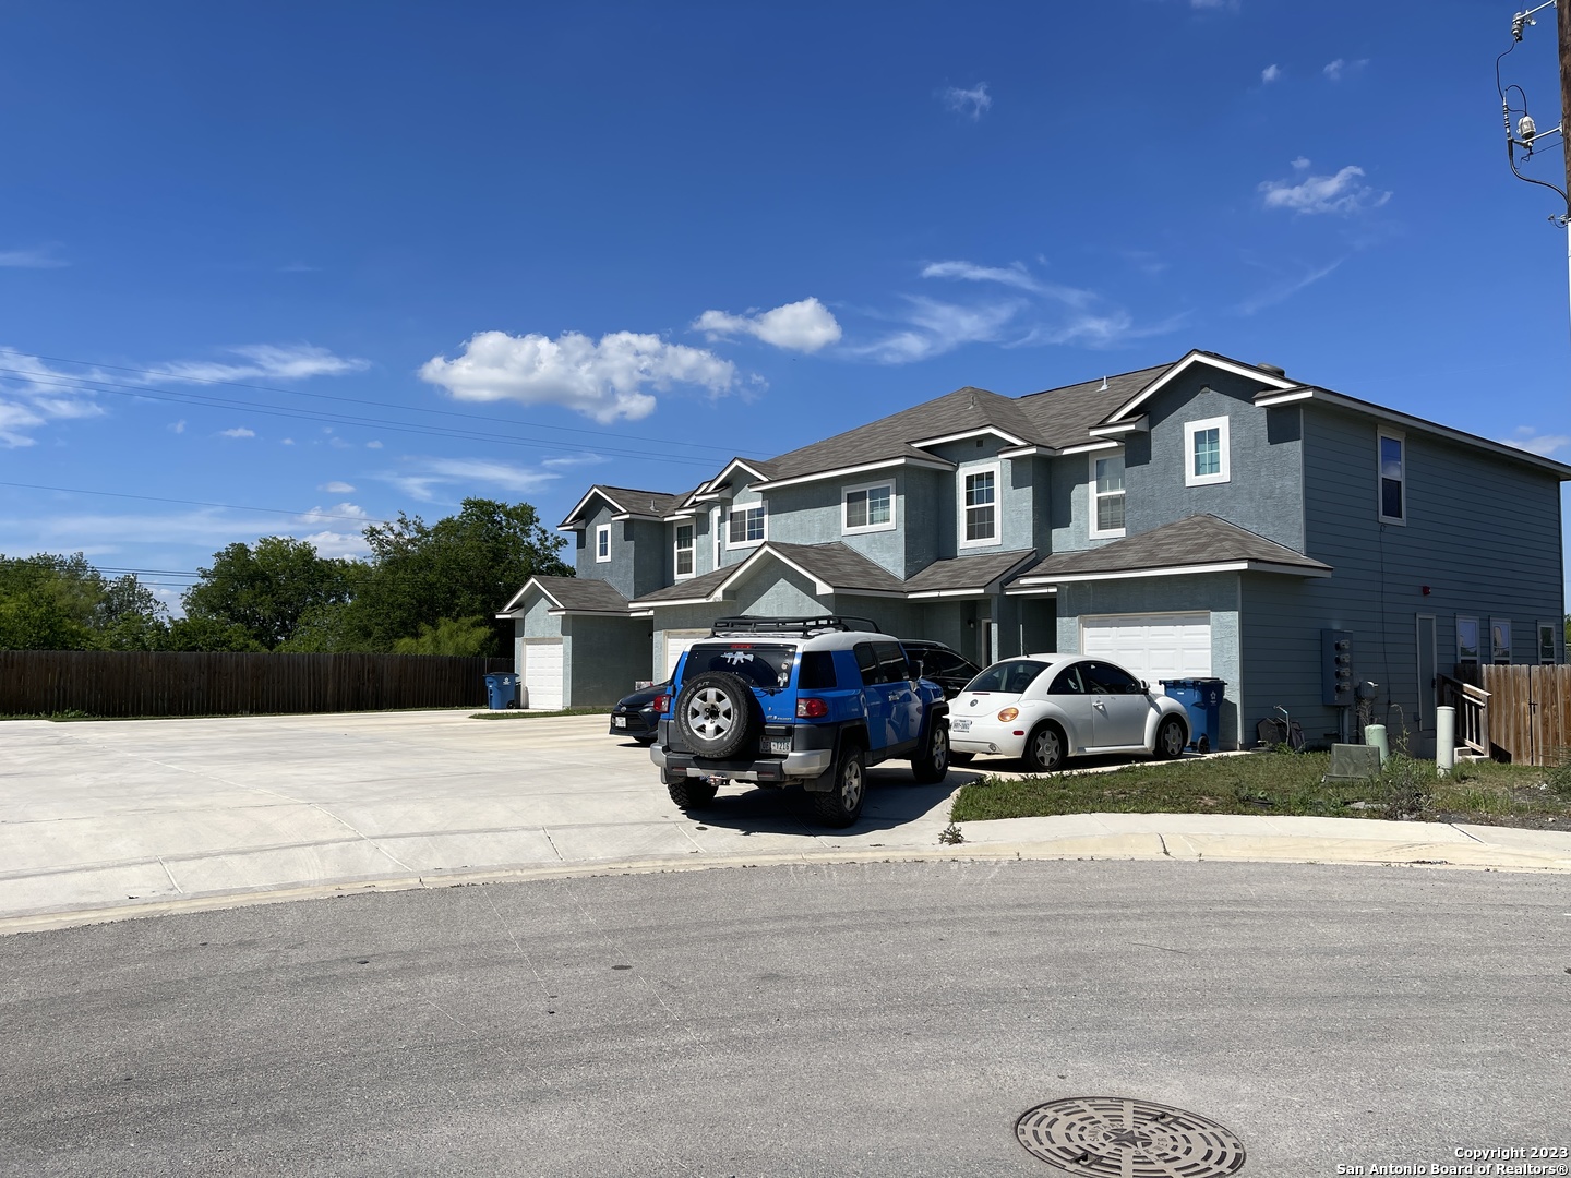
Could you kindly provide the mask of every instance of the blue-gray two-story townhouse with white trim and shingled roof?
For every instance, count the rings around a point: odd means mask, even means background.
[[[987,663],[1081,650],[1345,732],[1324,635],[1422,748],[1434,677],[1560,661],[1571,466],[1208,352],[1005,397],[961,388],[685,495],[594,487],[578,578],[507,603],[531,705],[660,679],[715,617],[850,613]],[[592,584],[591,584],[592,583]]]

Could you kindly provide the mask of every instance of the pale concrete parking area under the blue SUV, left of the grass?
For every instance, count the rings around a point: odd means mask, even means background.
[[[971,774],[870,771],[850,831],[734,787],[694,820],[605,716],[468,712],[0,726],[0,919],[465,872],[938,847]]]

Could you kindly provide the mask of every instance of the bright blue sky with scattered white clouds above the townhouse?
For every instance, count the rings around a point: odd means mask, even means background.
[[[1511,13],[9,5],[0,553],[173,602],[1191,347],[1568,460]],[[1558,123],[1552,9],[1505,72]]]

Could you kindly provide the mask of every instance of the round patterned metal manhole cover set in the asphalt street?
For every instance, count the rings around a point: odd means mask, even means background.
[[[1244,1143],[1213,1120],[1128,1096],[1071,1096],[1015,1121],[1020,1143],[1087,1178],[1221,1178],[1244,1165]]]

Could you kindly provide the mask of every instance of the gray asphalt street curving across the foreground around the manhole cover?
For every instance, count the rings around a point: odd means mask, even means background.
[[[1214,1118],[1246,1175],[1430,1165],[1571,1145],[1568,971],[1565,875],[1175,859],[17,933],[0,1172],[1046,1175],[1015,1120],[1075,1095]]]

